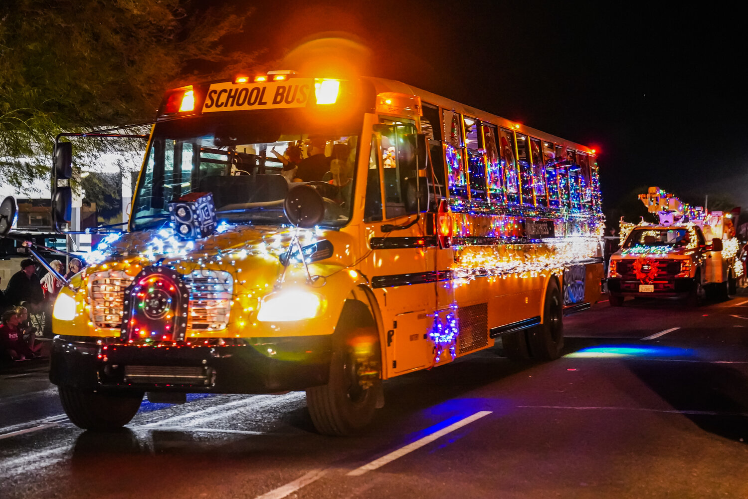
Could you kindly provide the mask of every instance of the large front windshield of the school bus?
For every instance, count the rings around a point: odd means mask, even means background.
[[[158,123],[132,203],[132,230],[168,223],[168,203],[197,192],[212,193],[219,220],[286,224],[283,200],[298,182],[325,200],[321,225],[346,224],[361,123],[304,121],[259,111]]]

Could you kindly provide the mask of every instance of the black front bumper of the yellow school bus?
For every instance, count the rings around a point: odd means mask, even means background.
[[[328,382],[332,337],[242,338],[143,346],[57,336],[49,379],[85,390],[268,394]]]

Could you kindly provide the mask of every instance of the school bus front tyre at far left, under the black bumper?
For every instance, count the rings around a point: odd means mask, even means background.
[[[102,394],[61,386],[62,408],[73,424],[82,429],[111,431],[130,422],[138,412],[143,393]]]

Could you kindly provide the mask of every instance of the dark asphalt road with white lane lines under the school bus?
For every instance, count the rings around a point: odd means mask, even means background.
[[[317,435],[304,394],[144,402],[82,432],[46,365],[0,374],[0,497],[748,498],[748,293],[607,302],[565,355],[470,355],[385,384],[370,432]]]

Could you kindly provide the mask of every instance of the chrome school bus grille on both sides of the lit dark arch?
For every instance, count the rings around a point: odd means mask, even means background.
[[[94,272],[88,278],[91,319],[97,328],[120,328],[123,297],[134,277],[121,270]],[[233,278],[222,270],[195,270],[184,276],[189,290],[188,331],[215,331],[229,322]]]

